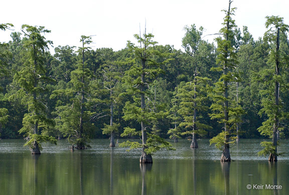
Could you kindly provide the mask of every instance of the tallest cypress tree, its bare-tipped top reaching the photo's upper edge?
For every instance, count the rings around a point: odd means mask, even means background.
[[[210,140],[210,143],[215,143],[216,146],[221,149],[223,147],[223,152],[221,156],[221,161],[231,161],[230,155],[230,141],[231,129],[234,125],[234,120],[230,120],[230,111],[232,112],[231,107],[229,107],[229,88],[230,82],[235,82],[237,74],[233,72],[237,64],[236,53],[234,47],[232,46],[233,40],[233,29],[236,27],[232,15],[234,15],[235,8],[231,8],[231,0],[229,0],[228,10],[224,10],[226,17],[224,18],[224,27],[220,30],[220,33],[224,36],[224,39],[221,37],[217,38],[217,68],[212,68],[213,71],[222,71],[222,75],[219,78],[219,81],[215,83],[215,95],[213,96],[214,103],[211,106],[213,111],[210,114],[211,119],[218,119],[219,123],[223,124],[223,130],[216,137]]]

